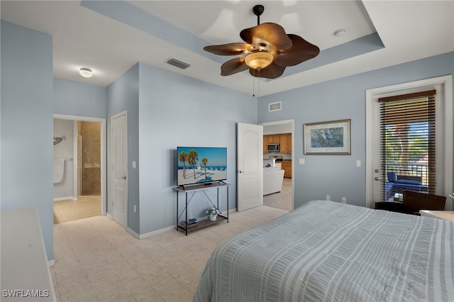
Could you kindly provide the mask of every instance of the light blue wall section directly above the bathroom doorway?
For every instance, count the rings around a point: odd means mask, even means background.
[[[54,113],[90,118],[107,117],[107,89],[54,78]]]

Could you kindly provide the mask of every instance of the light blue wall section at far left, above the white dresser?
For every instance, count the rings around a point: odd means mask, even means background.
[[[52,37],[1,21],[1,209],[36,208],[53,259]]]

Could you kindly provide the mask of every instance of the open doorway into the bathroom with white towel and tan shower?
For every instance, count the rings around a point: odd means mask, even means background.
[[[106,215],[103,118],[54,115],[54,223]]]

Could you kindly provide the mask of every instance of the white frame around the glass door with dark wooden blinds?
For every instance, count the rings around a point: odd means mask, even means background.
[[[431,79],[423,79],[420,81],[408,82],[403,84],[396,84],[391,86],[384,86],[375,89],[367,89],[365,91],[366,101],[366,207],[374,208],[374,201],[372,197],[373,186],[373,162],[372,162],[372,137],[373,137],[373,101],[378,97],[390,94],[400,94],[403,90],[417,89],[423,86],[441,86],[441,91],[444,97],[443,110],[445,113],[444,119],[444,191],[443,195],[448,196],[453,192],[453,75],[443,77],[434,77]],[[446,209],[453,210],[453,201],[446,199]]]

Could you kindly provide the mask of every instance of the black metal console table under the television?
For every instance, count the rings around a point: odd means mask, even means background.
[[[216,188],[217,190],[217,195],[216,195],[216,206],[217,208],[219,208],[219,188],[225,186],[226,187],[226,191],[227,191],[227,208],[226,208],[226,215],[221,215],[221,214],[218,214],[218,217],[216,220],[214,221],[211,221],[209,219],[205,219],[205,220],[199,220],[195,225],[186,225],[188,219],[187,219],[187,207],[189,206],[189,203],[191,202],[191,199],[192,197],[194,197],[194,195],[197,193],[197,191],[202,191],[206,198],[209,199],[209,201],[211,203],[213,203],[211,201],[211,199],[209,198],[208,194],[206,194],[205,190],[210,190],[210,189],[214,189]],[[192,230],[199,230],[200,228],[205,228],[209,225],[214,225],[216,223],[220,223],[221,221],[227,221],[228,223],[228,186],[230,186],[230,184],[226,184],[225,182],[215,182],[215,183],[211,183],[209,185],[207,184],[197,184],[197,185],[192,185],[192,186],[177,186],[176,188],[173,188],[175,191],[177,191],[177,230],[181,229],[181,230],[184,230],[184,233],[187,233],[189,231],[192,231]],[[184,204],[184,208],[183,208],[183,211],[182,213],[179,213],[179,210],[178,210],[178,196],[179,196],[179,193],[182,192],[186,195],[186,202]],[[188,198],[188,195],[191,195],[189,198]],[[184,213],[184,220],[180,220],[180,217],[183,215]]]

